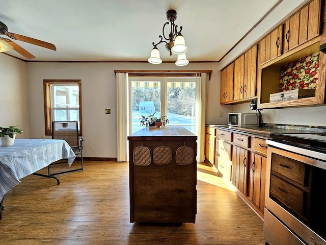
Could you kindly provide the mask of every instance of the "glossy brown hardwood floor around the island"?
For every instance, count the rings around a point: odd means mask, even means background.
[[[0,244],[264,244],[263,221],[211,167],[198,164],[196,224],[130,223],[128,175],[126,162],[85,161],[60,185],[23,178],[5,196]]]

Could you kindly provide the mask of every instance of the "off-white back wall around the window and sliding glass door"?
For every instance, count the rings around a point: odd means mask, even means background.
[[[183,69],[213,70],[208,83],[207,121],[226,123],[232,106],[220,106],[220,71],[216,63],[190,63]],[[55,63],[30,62],[28,69],[28,94],[30,97],[31,138],[44,134],[43,79],[82,80],[83,138],[85,157],[117,157],[117,96],[114,70],[177,69],[174,63],[155,66],[149,63]],[[104,109],[110,108],[111,114]],[[219,118],[215,111],[224,111]],[[48,136],[49,137],[49,136]]]

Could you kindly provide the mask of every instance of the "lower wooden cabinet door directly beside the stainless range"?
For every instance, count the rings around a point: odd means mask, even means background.
[[[266,157],[256,153],[252,154],[248,181],[247,196],[259,210],[263,211],[265,206]]]

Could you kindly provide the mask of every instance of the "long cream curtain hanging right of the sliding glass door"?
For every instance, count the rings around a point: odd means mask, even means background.
[[[200,77],[200,84],[196,84],[196,111],[199,116],[196,116],[196,135],[197,135],[197,161],[204,162],[205,158],[205,120],[206,120],[206,96],[207,96],[207,83],[208,76],[202,73]],[[196,81],[197,74],[196,74]],[[197,82],[198,83],[198,82]],[[199,86],[198,86],[199,85]]]

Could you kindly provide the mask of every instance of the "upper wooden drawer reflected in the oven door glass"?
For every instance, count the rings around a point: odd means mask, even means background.
[[[305,185],[306,164],[277,154],[272,155],[271,170]]]

